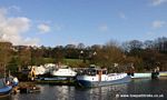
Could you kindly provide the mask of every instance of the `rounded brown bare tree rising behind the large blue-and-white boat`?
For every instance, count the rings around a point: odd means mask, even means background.
[[[96,58],[94,60],[97,64],[106,67],[111,71],[115,63],[121,64],[124,62],[124,52],[118,43],[110,41],[96,51]]]

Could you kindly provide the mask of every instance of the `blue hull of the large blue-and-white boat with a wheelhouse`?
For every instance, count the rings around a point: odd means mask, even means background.
[[[126,83],[129,82],[131,78],[129,76],[119,79],[119,80],[111,80],[111,81],[87,81],[87,80],[77,80],[79,86],[81,87],[102,87],[102,86],[110,86],[110,84],[118,84],[118,83]]]

